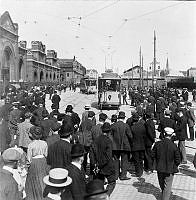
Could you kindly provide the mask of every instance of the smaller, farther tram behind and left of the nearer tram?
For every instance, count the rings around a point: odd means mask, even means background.
[[[85,76],[80,80],[80,92],[84,94],[95,94],[97,92],[97,79]]]

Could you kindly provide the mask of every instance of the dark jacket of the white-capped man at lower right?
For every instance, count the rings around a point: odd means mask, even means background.
[[[177,146],[168,138],[156,142],[152,156],[156,161],[156,170],[162,173],[177,173],[180,153]]]

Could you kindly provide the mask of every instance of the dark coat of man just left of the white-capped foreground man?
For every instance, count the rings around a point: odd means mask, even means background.
[[[145,127],[146,127],[145,146],[151,147],[156,138],[155,124],[153,120],[147,119],[145,122]]]

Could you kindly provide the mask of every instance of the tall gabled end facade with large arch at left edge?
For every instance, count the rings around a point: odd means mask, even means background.
[[[0,16],[0,92],[10,82],[26,79],[26,49],[19,47],[18,24],[6,11]]]

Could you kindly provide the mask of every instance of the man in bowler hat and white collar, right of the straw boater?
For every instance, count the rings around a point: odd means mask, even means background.
[[[73,200],[83,200],[86,192],[85,173],[82,169],[84,154],[84,146],[82,144],[74,144],[71,148],[72,162],[66,167],[69,176],[72,178],[70,190]]]

